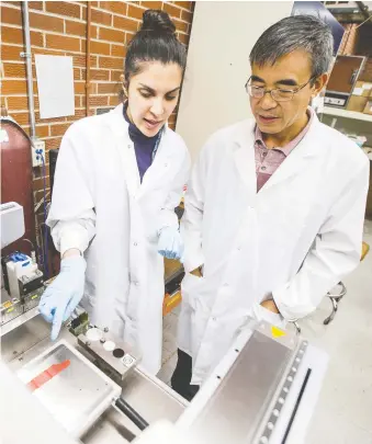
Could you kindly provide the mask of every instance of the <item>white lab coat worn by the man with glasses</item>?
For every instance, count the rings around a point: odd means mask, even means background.
[[[257,193],[253,128],[249,119],[214,134],[188,185],[178,340],[193,358],[191,384],[271,293],[285,320],[305,317],[360,261],[369,186],[361,149],[314,116]],[[204,277],[188,273],[201,264]]]

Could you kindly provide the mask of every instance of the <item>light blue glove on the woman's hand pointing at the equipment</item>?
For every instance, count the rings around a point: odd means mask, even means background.
[[[58,276],[47,286],[38,310],[47,322],[52,322],[52,341],[60,327],[80,303],[84,288],[87,262],[81,255],[72,255],[60,262]]]

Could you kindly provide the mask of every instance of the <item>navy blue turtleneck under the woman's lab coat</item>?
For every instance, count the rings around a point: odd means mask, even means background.
[[[123,114],[124,114],[125,121],[129,125],[129,127],[128,127],[129,137],[134,144],[134,150],[136,153],[137,166],[138,166],[140,183],[142,183],[145,172],[153,163],[153,152],[154,152],[156,143],[158,140],[159,133],[153,137],[145,136],[143,133],[140,133],[140,130],[136,127],[136,125],[134,125],[129,121],[126,109],[127,109],[127,105],[124,104]]]

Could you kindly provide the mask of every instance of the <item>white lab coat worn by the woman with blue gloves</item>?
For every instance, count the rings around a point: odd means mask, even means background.
[[[143,367],[156,374],[161,366],[165,296],[158,232],[165,226],[178,228],[174,207],[188,180],[190,157],[182,138],[166,127],[140,184],[127,126],[119,105],[66,132],[47,224],[61,253],[86,250],[81,305],[91,322],[136,345]]]

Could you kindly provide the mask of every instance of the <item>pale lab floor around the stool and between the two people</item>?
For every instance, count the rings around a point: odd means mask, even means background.
[[[372,221],[364,240],[372,249]],[[372,251],[345,280],[348,293],[335,320],[324,326],[330,304],[302,321],[303,335],[330,356],[306,444],[372,444]],[[164,322],[164,366],[160,379],[169,384],[177,363],[178,314]]]

